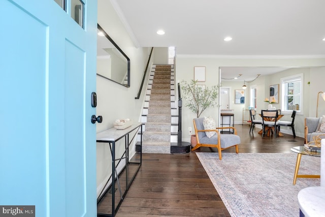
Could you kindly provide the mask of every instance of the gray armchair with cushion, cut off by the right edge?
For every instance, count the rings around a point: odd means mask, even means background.
[[[325,134],[325,132],[318,132],[322,123],[322,117],[306,117],[305,118],[305,144],[313,141],[314,136]]]

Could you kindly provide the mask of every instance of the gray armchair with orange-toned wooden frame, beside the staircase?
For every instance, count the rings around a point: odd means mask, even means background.
[[[197,138],[197,145],[192,148],[195,150],[199,147],[214,147],[218,149],[219,159],[222,159],[221,151],[235,146],[236,153],[238,153],[238,144],[240,143],[240,137],[237,135],[237,131],[234,127],[214,128],[206,129],[203,125],[204,118],[194,118],[194,130]],[[220,134],[218,129],[233,129],[234,134]],[[206,132],[215,132],[212,137],[208,137]]]

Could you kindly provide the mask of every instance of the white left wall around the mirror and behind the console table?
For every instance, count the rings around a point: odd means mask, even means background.
[[[131,63],[131,87],[119,85],[115,82],[97,76],[97,100],[96,115],[103,116],[102,123],[96,123],[97,132],[102,132],[113,127],[116,119],[129,118],[134,122],[139,121],[143,104],[143,94],[139,100],[139,86],[148,61],[149,48],[136,48],[128,36],[123,24],[118,18],[110,1],[98,1],[98,22],[105,32],[129,57]],[[105,22],[101,22],[105,20]],[[132,137],[131,137],[132,138]],[[121,153],[124,141],[116,144],[117,153]],[[119,145],[122,144],[122,145]],[[111,174],[111,153],[108,143],[97,143],[97,185],[98,193]],[[134,146],[131,148],[135,151]],[[132,156],[132,152],[130,156]]]

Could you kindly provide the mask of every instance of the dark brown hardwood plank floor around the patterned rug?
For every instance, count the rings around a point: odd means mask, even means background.
[[[240,153],[288,153],[304,139],[262,138],[248,125],[235,125]],[[195,152],[217,152],[201,147],[186,154],[143,154],[142,166],[116,216],[230,216]],[[223,152],[235,152],[235,148]],[[219,161],[216,159],[216,161]],[[293,165],[294,166],[294,165]]]

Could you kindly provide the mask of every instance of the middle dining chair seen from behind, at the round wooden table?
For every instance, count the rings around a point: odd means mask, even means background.
[[[277,132],[278,132],[278,111],[276,110],[261,110],[261,115],[262,115],[262,137],[264,137],[264,135],[266,133],[270,134],[273,133],[274,134],[274,138],[277,137]]]

